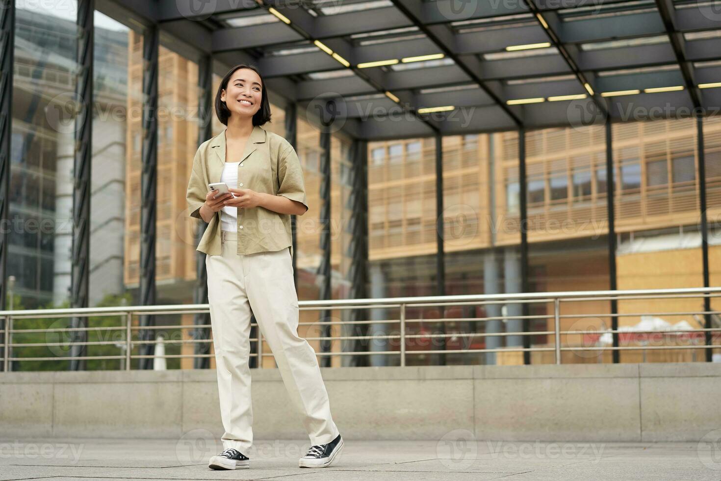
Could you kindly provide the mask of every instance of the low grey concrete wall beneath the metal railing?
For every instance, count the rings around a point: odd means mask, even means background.
[[[696,441],[721,426],[721,364],[322,369],[348,439]],[[277,369],[253,371],[254,436],[306,438]],[[0,438],[223,433],[215,371],[0,373]]]

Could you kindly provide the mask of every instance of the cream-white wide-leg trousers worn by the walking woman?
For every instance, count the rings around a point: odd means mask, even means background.
[[[298,336],[298,296],[290,249],[236,254],[236,233],[223,233],[222,254],[205,256],[224,449],[252,446],[250,317],[273,351],[311,445],[338,436],[315,351]]]

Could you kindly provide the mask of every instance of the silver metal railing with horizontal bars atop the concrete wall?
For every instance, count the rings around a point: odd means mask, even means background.
[[[644,289],[644,290],[627,290],[627,291],[569,291],[569,292],[541,292],[541,293],[518,293],[518,294],[481,294],[481,295],[464,295],[464,296],[422,296],[422,297],[397,297],[384,299],[342,299],[328,301],[299,301],[298,305],[301,311],[342,311],[345,309],[359,309],[368,312],[370,309],[398,309],[399,317],[397,319],[373,319],[361,321],[318,321],[318,322],[299,322],[298,325],[397,325],[397,334],[391,335],[361,335],[361,336],[330,336],[330,337],[306,337],[307,340],[381,340],[388,342],[390,340],[398,341],[397,350],[362,350],[362,351],[335,351],[335,352],[317,352],[317,356],[399,356],[399,365],[405,366],[408,356],[418,354],[452,354],[452,353],[523,353],[530,351],[531,353],[553,352],[554,362],[559,364],[562,362],[562,353],[565,351],[585,351],[593,352],[595,350],[656,350],[656,349],[713,349],[721,350],[721,322],[712,322],[709,319],[719,319],[721,314],[717,310],[684,310],[680,312],[621,312],[612,314],[610,312],[581,314],[562,314],[563,304],[570,302],[598,302],[598,301],[631,301],[645,299],[647,301],[658,301],[660,299],[703,299],[715,298],[721,296],[721,287],[711,288],[681,288],[681,289]],[[534,314],[534,315],[501,315],[494,317],[445,317],[445,313],[449,308],[458,306],[489,306],[492,304],[547,304],[552,306],[552,314]],[[409,311],[413,312],[417,309],[439,308],[439,312],[443,315],[438,318],[412,318],[408,317]],[[548,310],[548,309],[547,309]],[[0,311],[0,319],[4,325],[3,335],[3,370],[8,371],[9,363],[25,362],[25,361],[69,361],[71,359],[117,359],[124,360],[125,369],[130,370],[133,359],[140,358],[199,358],[213,357],[214,354],[169,354],[169,355],[139,355],[133,354],[133,347],[142,344],[192,344],[212,343],[212,339],[181,339],[181,340],[137,340],[133,339],[133,332],[141,330],[209,330],[211,325],[151,325],[140,326],[133,325],[133,317],[138,315],[160,315],[160,314],[208,314],[208,304],[181,304],[170,306],[118,306],[118,307],[97,307],[84,309],[30,309],[20,311]],[[684,335],[688,345],[598,345],[598,339],[603,335],[629,335],[629,330],[619,328],[611,330],[606,327],[599,327],[593,330],[576,329],[561,330],[562,319],[601,319],[612,317],[638,317],[642,315],[665,315],[665,316],[694,316],[696,319],[702,319],[703,322],[697,322],[699,327],[696,329],[683,330],[634,330],[634,335],[653,333],[656,335]],[[29,329],[17,329],[13,327],[13,323],[22,319],[52,319],[52,318],[69,318],[69,317],[123,317],[124,324],[120,326],[102,326],[102,327],[50,327]],[[332,319],[332,318],[329,318]],[[408,333],[408,325],[413,323],[430,323],[438,325],[447,325],[451,322],[489,322],[492,320],[500,320],[507,322],[508,320],[524,319],[547,319],[546,325],[552,329],[546,330],[528,330],[515,332],[513,330],[506,332],[442,332],[437,334],[412,334]],[[552,319],[552,322],[549,322]],[[255,324],[253,324],[255,326]],[[708,325],[718,325],[718,327],[706,327]],[[27,333],[43,333],[47,341],[50,332],[71,333],[78,331],[96,331],[96,332],[118,332],[122,335],[120,340],[100,340],[76,342],[73,340],[65,340],[57,343],[13,343],[13,335]],[[445,331],[445,330],[444,330]],[[703,343],[699,341],[699,334],[702,334]],[[562,336],[569,335],[590,335],[595,339],[594,345],[563,345]],[[466,338],[475,339],[487,337],[508,337],[508,336],[546,336],[553,340],[552,345],[536,346],[531,348],[523,348],[521,345],[509,345],[500,348],[465,348],[465,349],[448,349],[448,338]],[[441,349],[421,349],[407,350],[408,345],[412,345],[410,341],[419,338],[425,339],[441,339]],[[616,337],[617,338],[617,337]],[[255,342],[257,350],[250,356],[272,357],[272,353],[263,353],[262,335],[260,329],[257,330],[257,337],[251,338],[250,342]],[[569,344],[568,342],[566,344]],[[123,348],[125,352],[119,356],[53,356],[53,357],[22,357],[13,356],[12,353],[22,348],[28,347],[46,347],[46,348],[63,348],[63,351],[69,350],[73,345],[115,345]],[[56,349],[57,350],[57,349]],[[262,362],[257,363],[258,367],[262,367]]]

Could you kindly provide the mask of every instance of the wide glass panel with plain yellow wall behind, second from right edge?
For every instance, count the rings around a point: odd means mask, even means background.
[[[618,288],[703,286],[699,196],[695,175],[688,174],[695,159],[696,121],[619,123],[613,128],[614,160],[621,166],[627,189],[616,193]],[[666,185],[669,163],[674,182],[677,175],[691,182]],[[663,349],[703,344],[702,333],[653,332],[700,327],[699,316],[686,313],[698,312],[702,306],[700,298],[620,300],[619,329],[624,332],[619,334],[619,345],[629,348],[621,351],[621,362],[704,361],[702,348]],[[610,345],[611,336],[604,335],[599,342]]]

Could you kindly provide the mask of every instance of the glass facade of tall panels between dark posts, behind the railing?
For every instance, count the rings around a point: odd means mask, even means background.
[[[75,123],[71,108],[78,82],[76,48],[81,33],[72,2],[57,9],[17,7],[12,98],[7,275],[16,279],[16,309],[67,306],[71,287]],[[95,12],[92,90],[92,196],[90,199],[89,306],[138,304],[141,278],[141,170],[143,125],[143,33]],[[194,232],[187,219],[185,189],[198,146],[199,65],[161,43],[157,136],[156,303],[190,304],[196,285]],[[429,66],[428,68],[433,68]],[[212,78],[214,98],[220,76]],[[279,99],[280,97],[275,97]],[[268,131],[286,136],[287,105],[273,102]],[[699,129],[694,118],[614,123],[540,130],[469,132],[441,139],[438,182],[435,138],[368,141],[366,281],[369,298],[438,294],[501,294],[605,290],[612,285],[615,257],[618,289],[702,287],[699,190],[707,196],[709,279],[721,285],[721,118],[702,120],[703,162],[699,177]],[[330,141],[330,242],[322,243],[322,144],[319,130],[296,118],[295,148],[304,169],[311,208],[296,219],[298,298],[322,296],[324,249],[329,250],[329,299],[353,294],[353,138],[332,133]],[[224,130],[213,115],[212,133]],[[611,135],[614,231],[609,229],[607,135]],[[521,159],[521,143],[524,157]],[[523,165],[522,165],[523,164]],[[525,176],[521,171],[525,171]],[[521,182],[526,191],[521,202]],[[442,185],[442,190],[438,190]],[[441,198],[443,212],[438,213]],[[521,205],[526,206],[526,252],[521,240]],[[438,231],[438,216],[443,231]],[[609,236],[614,250],[609,250]],[[442,252],[439,252],[439,246]],[[442,257],[439,257],[442,256]],[[438,259],[443,260],[443,273]],[[524,266],[523,263],[526,262]],[[523,278],[523,273],[526,278]],[[697,336],[644,336],[633,327],[703,327],[698,297],[668,299],[644,314],[647,300],[619,301],[619,344],[675,346],[703,343]],[[562,330],[611,327],[611,301],[568,302]],[[712,299],[712,309],[721,309]],[[407,364],[518,364],[523,330],[539,332],[530,346],[554,343],[553,306],[547,302],[485,304],[407,312]],[[346,319],[338,311],[301,312],[301,335],[322,348],[322,323]],[[371,320],[392,320],[397,309],[372,309]],[[524,321],[522,315],[529,316]],[[507,319],[496,319],[507,317]],[[518,317],[518,319],[514,319]],[[439,322],[438,319],[446,319]],[[190,325],[192,315],[159,317],[158,325]],[[685,324],[684,324],[685,323]],[[334,336],[348,332],[336,325]],[[172,330],[170,330],[172,331]],[[170,332],[174,334],[174,332]],[[397,350],[398,326],[373,324],[368,334],[389,338],[365,350]],[[490,334],[477,336],[474,333]],[[438,335],[447,335],[438,337]],[[690,337],[690,338],[689,338]],[[718,337],[715,343],[721,344]],[[567,335],[565,346],[608,345],[607,336]],[[654,344],[655,343],[655,344]],[[331,352],[344,343],[334,342]],[[358,347],[358,344],[353,344]],[[169,347],[192,353],[193,348]],[[494,353],[443,350],[499,349]],[[433,351],[433,352],[426,352]],[[120,352],[120,350],[118,350]],[[212,351],[211,351],[212,352]],[[720,350],[714,353],[721,355]],[[553,352],[532,353],[526,362],[553,363]],[[564,363],[612,362],[609,350],[565,352]],[[705,350],[624,350],[621,362],[704,361]],[[191,367],[187,360],[172,367]],[[397,355],[368,355],[363,361],[330,356],[329,365],[399,364]],[[272,366],[266,359],[264,365]],[[211,366],[213,359],[211,358]],[[107,367],[107,366],[105,366]]]

